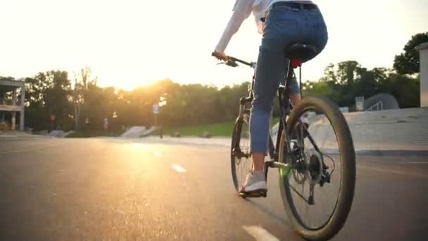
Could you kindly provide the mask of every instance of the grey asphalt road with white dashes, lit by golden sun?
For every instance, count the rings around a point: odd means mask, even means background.
[[[226,147],[132,140],[0,139],[1,240],[303,240],[277,172],[237,196]],[[428,157],[358,156],[334,240],[428,240]]]

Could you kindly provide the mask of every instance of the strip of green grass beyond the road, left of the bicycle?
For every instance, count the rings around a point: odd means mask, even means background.
[[[272,123],[277,123],[279,118],[273,118]],[[177,128],[163,128],[163,135],[171,135],[173,132],[180,132],[182,136],[201,136],[203,132],[209,132],[213,137],[230,137],[232,135],[234,121],[215,123],[208,125],[192,125]],[[159,135],[160,130],[156,130],[151,135]]]

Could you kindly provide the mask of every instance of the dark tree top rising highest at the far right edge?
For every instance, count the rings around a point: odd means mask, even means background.
[[[404,52],[396,55],[394,59],[394,69],[401,75],[419,73],[420,59],[419,51],[415,48],[420,44],[428,42],[428,32],[413,35],[407,44]]]

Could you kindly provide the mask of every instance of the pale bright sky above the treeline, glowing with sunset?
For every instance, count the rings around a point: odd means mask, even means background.
[[[390,68],[412,35],[428,31],[427,0],[318,0],[329,42],[303,65],[303,79],[329,63]],[[251,69],[210,56],[234,0],[0,0],[0,76],[23,78],[89,66],[101,86],[123,89],[170,78],[182,84],[239,84]],[[261,36],[253,17],[226,54],[255,61]]]

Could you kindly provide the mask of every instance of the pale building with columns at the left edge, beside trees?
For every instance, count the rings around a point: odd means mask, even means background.
[[[11,130],[16,130],[16,113],[19,113],[19,130],[24,130],[24,111],[25,82],[0,78],[0,123],[8,121]]]

